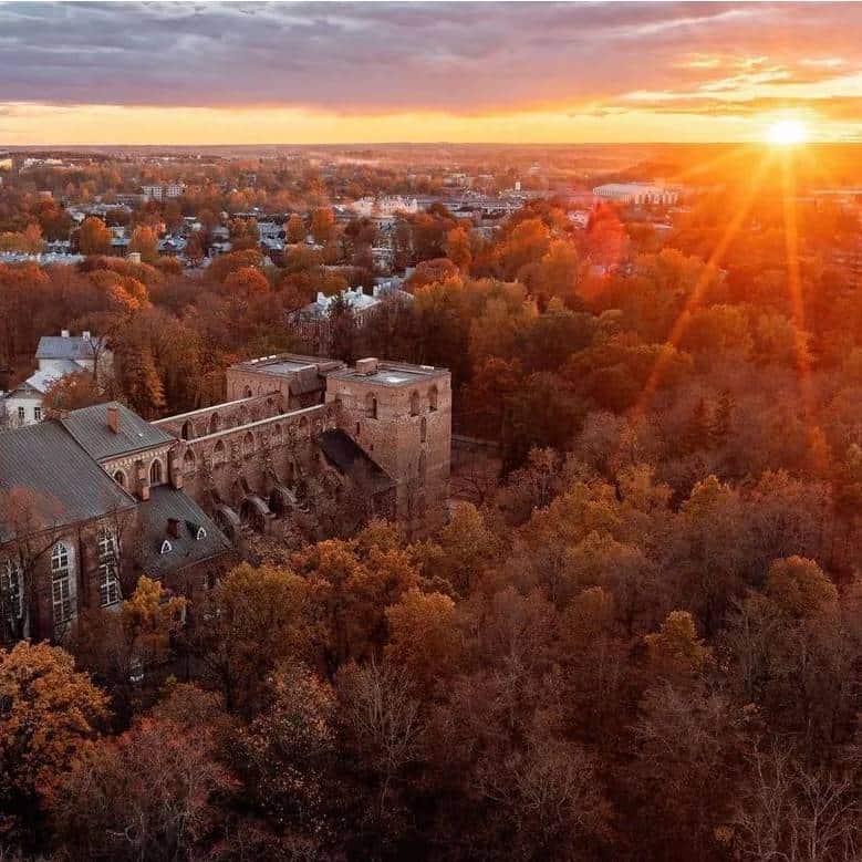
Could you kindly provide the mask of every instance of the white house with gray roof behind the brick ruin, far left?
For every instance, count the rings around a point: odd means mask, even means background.
[[[60,335],[43,335],[35,360],[37,371],[0,402],[12,427],[33,425],[44,418],[44,396],[61,377],[89,372],[104,381],[113,366],[113,354],[105,347],[104,339],[86,331],[81,335],[71,335],[69,330]]]

